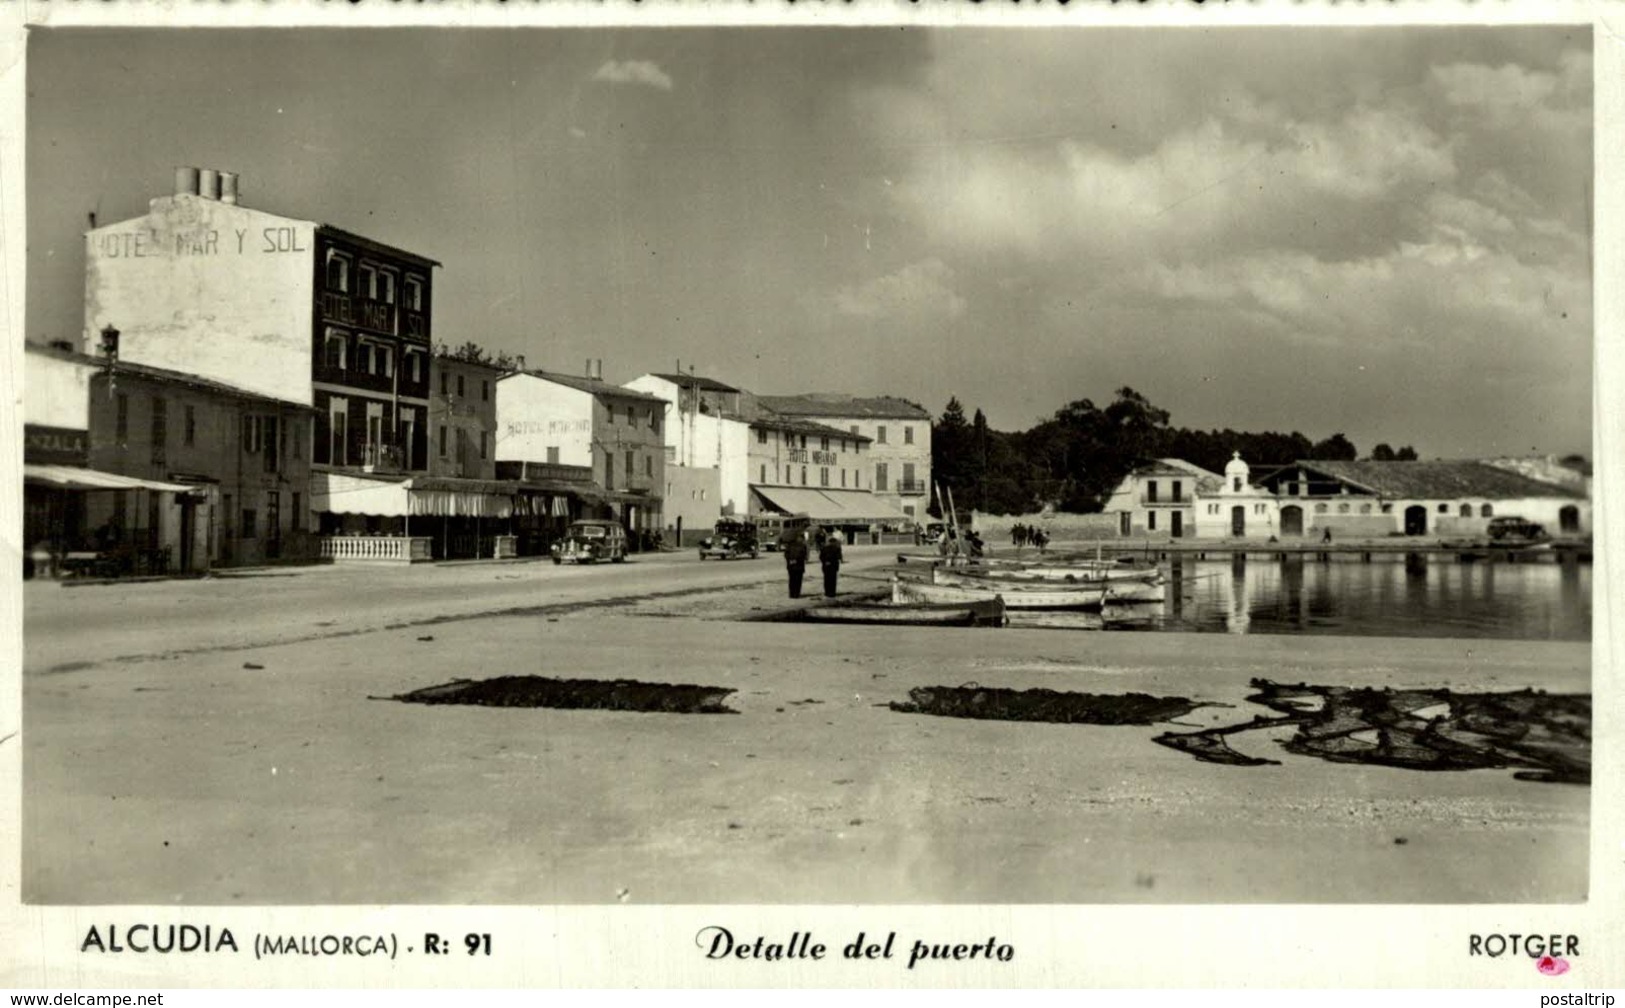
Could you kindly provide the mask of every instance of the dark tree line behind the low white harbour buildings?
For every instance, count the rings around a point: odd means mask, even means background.
[[[1095,512],[1144,458],[1183,458],[1222,473],[1232,452],[1250,465],[1298,458],[1355,460],[1358,449],[1344,434],[1311,441],[1294,431],[1196,431],[1170,426],[1170,413],[1133,389],[1118,389],[1105,408],[1081,398],[1027,431],[994,431],[977,410],[965,419],[949,398],[931,424],[931,473],[951,488],[959,507],[994,514],[1027,514],[1045,504]],[[1370,458],[1412,462],[1410,445],[1378,444]]]

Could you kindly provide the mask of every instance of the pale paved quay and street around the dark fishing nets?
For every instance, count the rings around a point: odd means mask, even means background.
[[[847,587],[890,553],[855,550]],[[682,553],[28,585],[24,899],[1586,894],[1589,787],[1328,763],[1280,749],[1282,730],[1233,740],[1280,761],[1258,767],[1150,740],[1264,712],[1253,676],[1586,693],[1588,645],[734,619],[786,605],[782,576],[775,556]],[[375,699],[499,675],[718,686],[738,714]],[[1214,706],[1115,727],[889,707],[970,681]]]

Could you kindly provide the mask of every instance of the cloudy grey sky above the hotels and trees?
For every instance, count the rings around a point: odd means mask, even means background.
[[[1175,426],[1591,454],[1589,26],[34,29],[28,337],[174,166],[429,255],[604,379],[1129,385]]]

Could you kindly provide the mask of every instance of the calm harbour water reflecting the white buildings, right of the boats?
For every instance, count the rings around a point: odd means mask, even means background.
[[[1591,566],[1254,556],[1173,559],[1167,600],[1092,613],[1011,613],[1011,626],[1346,634],[1357,637],[1591,639]]]

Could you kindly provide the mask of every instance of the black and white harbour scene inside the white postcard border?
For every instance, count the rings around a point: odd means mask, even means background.
[[[1589,21],[26,36],[70,951],[1599,897]]]

